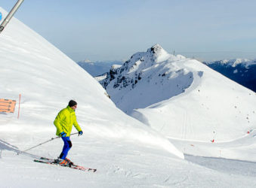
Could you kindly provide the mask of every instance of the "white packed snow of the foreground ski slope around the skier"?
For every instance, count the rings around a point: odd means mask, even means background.
[[[116,108],[91,75],[15,18],[0,35],[0,44],[0,96],[17,100],[14,114],[0,113],[1,187],[256,186],[253,131],[221,145],[172,139],[174,147],[165,135]],[[169,58],[162,55],[156,61]],[[63,146],[58,138],[17,155],[56,136],[54,118],[69,99],[78,102],[76,115],[84,132],[71,137],[69,159],[97,168],[95,173],[33,162],[40,156],[56,158]],[[236,160],[212,157],[219,150],[224,157],[242,154]]]

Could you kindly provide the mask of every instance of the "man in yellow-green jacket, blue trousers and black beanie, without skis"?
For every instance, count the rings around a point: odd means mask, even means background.
[[[72,143],[70,141],[70,132],[72,131],[72,126],[76,127],[76,130],[79,132],[79,135],[82,135],[82,129],[79,126],[79,123],[76,122],[76,111],[77,103],[73,100],[69,101],[69,105],[61,110],[57,117],[54,120],[54,125],[57,128],[56,135],[60,136],[64,142],[63,150],[60,153],[58,159],[55,160],[60,165],[72,165],[73,163],[66,158]]]

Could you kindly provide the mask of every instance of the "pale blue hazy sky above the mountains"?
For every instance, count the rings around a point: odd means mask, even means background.
[[[214,60],[256,58],[255,8],[254,0],[24,0],[15,17],[75,61],[129,59],[157,43]]]

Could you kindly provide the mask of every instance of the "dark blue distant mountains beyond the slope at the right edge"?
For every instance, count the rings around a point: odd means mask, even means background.
[[[230,59],[204,63],[236,83],[256,92],[256,59]]]

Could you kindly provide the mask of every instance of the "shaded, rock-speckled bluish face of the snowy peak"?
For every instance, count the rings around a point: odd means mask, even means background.
[[[191,71],[182,66],[185,59],[156,44],[146,52],[135,53],[121,67],[111,68],[100,83],[114,101],[119,101],[116,105],[129,114],[134,108],[145,108],[184,92],[193,82]],[[123,95],[135,95],[138,99],[132,97],[125,102]]]

